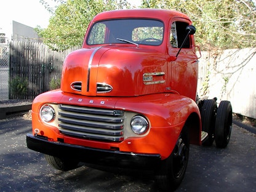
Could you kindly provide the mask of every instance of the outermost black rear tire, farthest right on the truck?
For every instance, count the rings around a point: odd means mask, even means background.
[[[217,148],[225,148],[230,142],[232,121],[231,103],[228,101],[220,102],[215,123],[215,143]]]

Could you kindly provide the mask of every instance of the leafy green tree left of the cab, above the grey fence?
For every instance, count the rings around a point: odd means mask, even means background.
[[[49,12],[54,12],[45,1],[40,1]],[[81,46],[90,20],[106,10],[129,7],[126,0],[67,0],[59,1],[46,29],[36,28],[47,46],[54,50],[65,50]]]

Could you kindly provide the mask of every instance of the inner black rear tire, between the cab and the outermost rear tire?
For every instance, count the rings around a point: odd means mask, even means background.
[[[211,146],[215,137],[215,121],[217,114],[217,103],[215,100],[204,100],[201,108],[202,130],[207,132],[208,137],[202,145]]]

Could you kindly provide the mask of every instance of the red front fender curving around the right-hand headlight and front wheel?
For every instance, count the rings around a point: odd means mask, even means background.
[[[142,151],[155,148],[162,159],[165,159],[174,150],[185,123],[193,120],[196,122],[191,126],[188,125],[191,129],[190,135],[194,137],[191,140],[200,144],[201,123],[198,105],[188,97],[177,94],[154,94],[121,98],[115,108],[141,113],[150,121],[148,135],[135,140],[125,140],[122,143],[124,150],[129,150],[132,146],[140,146],[143,148]]]

